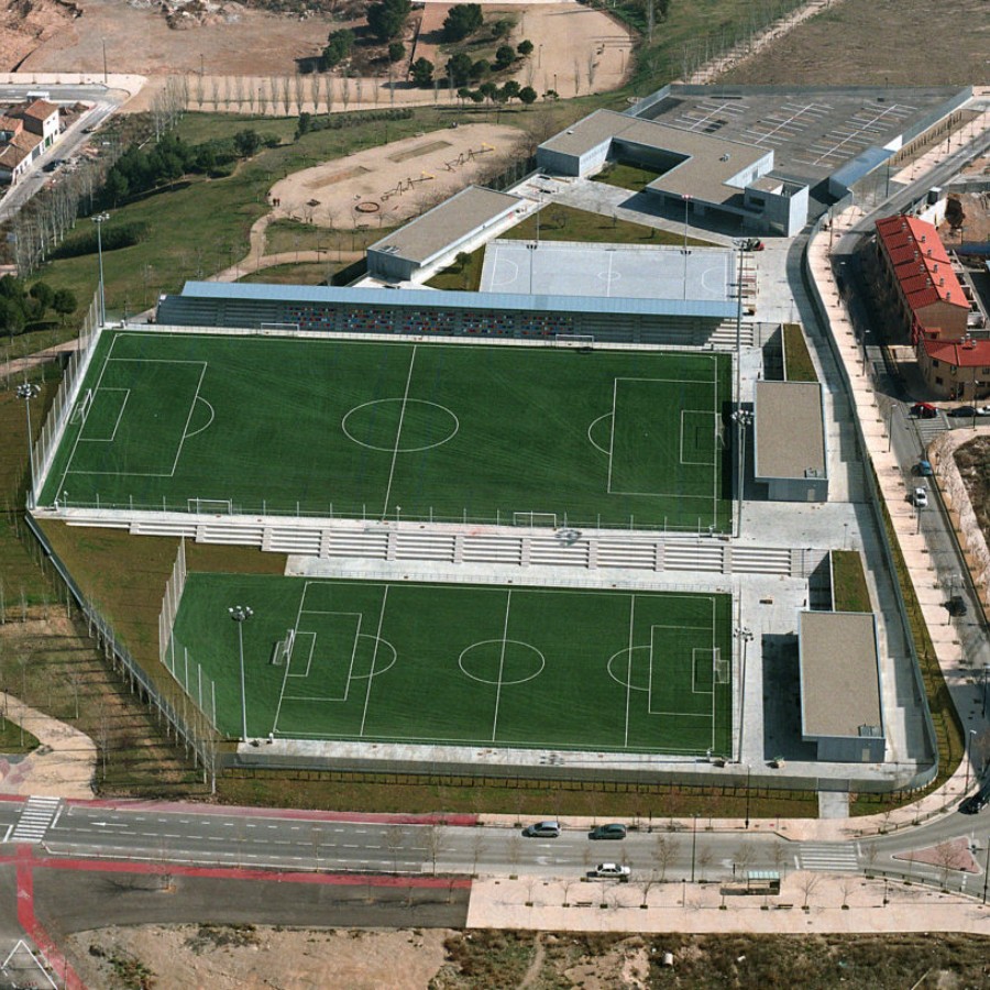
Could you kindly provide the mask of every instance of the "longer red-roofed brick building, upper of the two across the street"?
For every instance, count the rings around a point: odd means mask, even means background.
[[[961,340],[970,304],[938,231],[914,217],[877,221],[877,254],[908,339]]]

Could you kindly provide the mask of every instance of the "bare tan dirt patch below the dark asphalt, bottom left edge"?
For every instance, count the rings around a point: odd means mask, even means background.
[[[88,987],[122,987],[118,974],[140,965],[157,987],[424,990],[443,963],[449,934],[150,925],[79,932],[67,950]]]

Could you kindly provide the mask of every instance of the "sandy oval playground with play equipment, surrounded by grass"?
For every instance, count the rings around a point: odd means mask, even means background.
[[[319,227],[394,227],[504,168],[521,138],[516,128],[469,124],[395,141],[293,173],[268,201],[276,218]]]

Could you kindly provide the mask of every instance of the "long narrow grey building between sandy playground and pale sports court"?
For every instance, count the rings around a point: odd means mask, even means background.
[[[421,268],[452,262],[491,227],[524,211],[518,196],[469,186],[372,244],[367,273],[385,282],[409,282]]]

